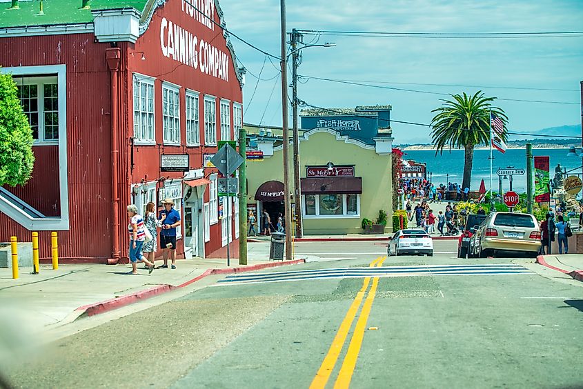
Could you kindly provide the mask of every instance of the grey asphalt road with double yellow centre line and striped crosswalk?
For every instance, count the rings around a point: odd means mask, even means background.
[[[455,251],[304,243],[322,261],[226,277],[8,375],[26,388],[582,387],[583,284]]]

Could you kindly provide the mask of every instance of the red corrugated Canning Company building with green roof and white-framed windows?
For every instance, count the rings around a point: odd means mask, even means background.
[[[61,261],[126,261],[126,206],[171,198],[177,255],[223,256],[238,204],[223,212],[208,160],[238,136],[244,70],[218,1],[19,6],[0,3],[0,71],[17,83],[36,161],[25,186],[0,188],[0,241],[39,231],[48,259],[57,231]]]

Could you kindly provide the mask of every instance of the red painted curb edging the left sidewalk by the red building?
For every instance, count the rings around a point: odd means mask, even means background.
[[[241,273],[241,272],[253,272],[255,270],[261,270],[266,268],[275,268],[277,266],[286,266],[286,265],[297,265],[299,263],[306,263],[306,259],[295,259],[293,261],[281,261],[281,262],[270,262],[270,263],[258,263],[257,265],[246,266],[246,267],[239,267],[239,268],[224,268],[224,269],[207,269],[204,273],[190,279],[184,283],[181,283],[179,286],[173,285],[160,285],[155,286],[154,288],[141,290],[140,292],[132,293],[130,295],[125,295],[121,297],[117,297],[114,299],[109,299],[105,301],[100,301],[99,303],[89,304],[86,306],[81,306],[75,310],[75,312],[81,312],[79,317],[84,316],[94,316],[99,315],[103,312],[108,312],[110,310],[115,310],[117,308],[121,308],[123,306],[127,306],[131,303],[135,303],[139,300],[149,299],[150,297],[154,297],[156,295],[161,295],[162,293],[170,292],[170,290],[174,290],[176,288],[184,288],[185,286],[190,285],[191,283],[195,283],[204,277],[208,277],[209,275],[226,275],[226,274],[233,274],[233,273]]]

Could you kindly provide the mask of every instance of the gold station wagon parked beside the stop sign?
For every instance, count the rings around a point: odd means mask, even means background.
[[[492,212],[477,227],[469,245],[469,257],[486,258],[499,251],[522,252],[536,257],[540,228],[528,213]]]

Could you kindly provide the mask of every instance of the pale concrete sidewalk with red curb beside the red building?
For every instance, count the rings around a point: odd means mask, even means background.
[[[213,274],[259,270],[273,266],[303,263],[295,261],[265,261],[250,259],[239,266],[238,259],[181,259],[177,269],[157,269],[148,274],[138,264],[139,275],[131,275],[130,264],[124,265],[59,265],[40,267],[40,274],[32,275],[32,268],[20,268],[19,279],[12,279],[12,271],[0,269],[0,307],[15,315],[26,317],[32,330],[59,326],[83,315],[97,315],[147,299],[181,286],[187,286]],[[161,261],[157,261],[161,265]],[[10,315],[0,312],[0,315]]]

